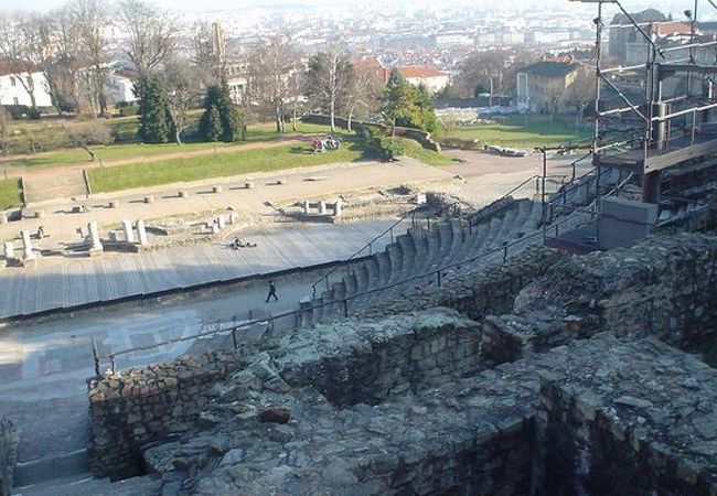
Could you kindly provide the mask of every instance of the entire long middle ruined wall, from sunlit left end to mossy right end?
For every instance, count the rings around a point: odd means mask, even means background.
[[[213,402],[311,387],[336,406],[376,403],[479,368],[479,326],[453,311],[320,325],[265,351],[212,352],[89,381],[93,468],[143,472],[142,450],[197,424]]]

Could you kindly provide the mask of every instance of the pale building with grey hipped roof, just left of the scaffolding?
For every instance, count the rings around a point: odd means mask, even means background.
[[[561,110],[560,97],[580,67],[574,62],[538,62],[523,67],[516,75],[517,104],[538,112]]]

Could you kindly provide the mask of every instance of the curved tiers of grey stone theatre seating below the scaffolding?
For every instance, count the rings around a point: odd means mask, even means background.
[[[610,186],[620,180],[618,171],[603,171],[600,183]],[[569,228],[588,220],[589,214],[571,211],[592,202],[596,181],[595,174],[586,175],[549,195],[545,213],[548,223]],[[447,218],[432,223],[430,228],[411,226],[384,251],[347,265],[344,277],[325,282],[325,290],[302,300],[300,326],[341,319],[413,289],[438,285],[439,279],[449,281],[457,271],[500,262],[507,246],[510,255],[515,255],[542,244],[543,216],[541,202],[509,197],[486,206],[471,219]],[[438,276],[441,268],[445,270]]]

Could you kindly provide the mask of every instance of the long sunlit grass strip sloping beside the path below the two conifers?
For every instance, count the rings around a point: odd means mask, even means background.
[[[157,186],[210,177],[271,172],[333,162],[354,162],[372,159],[363,145],[345,142],[340,150],[312,153],[309,143],[287,144],[268,149],[206,154],[186,159],[158,160],[150,163],[88,171],[94,192],[114,192],[132,187]]]

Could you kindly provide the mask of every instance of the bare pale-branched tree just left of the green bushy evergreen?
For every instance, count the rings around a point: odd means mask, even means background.
[[[340,45],[329,45],[325,52],[309,61],[307,93],[319,108],[329,114],[331,131],[336,130],[336,110],[345,105],[353,77],[353,65]]]

